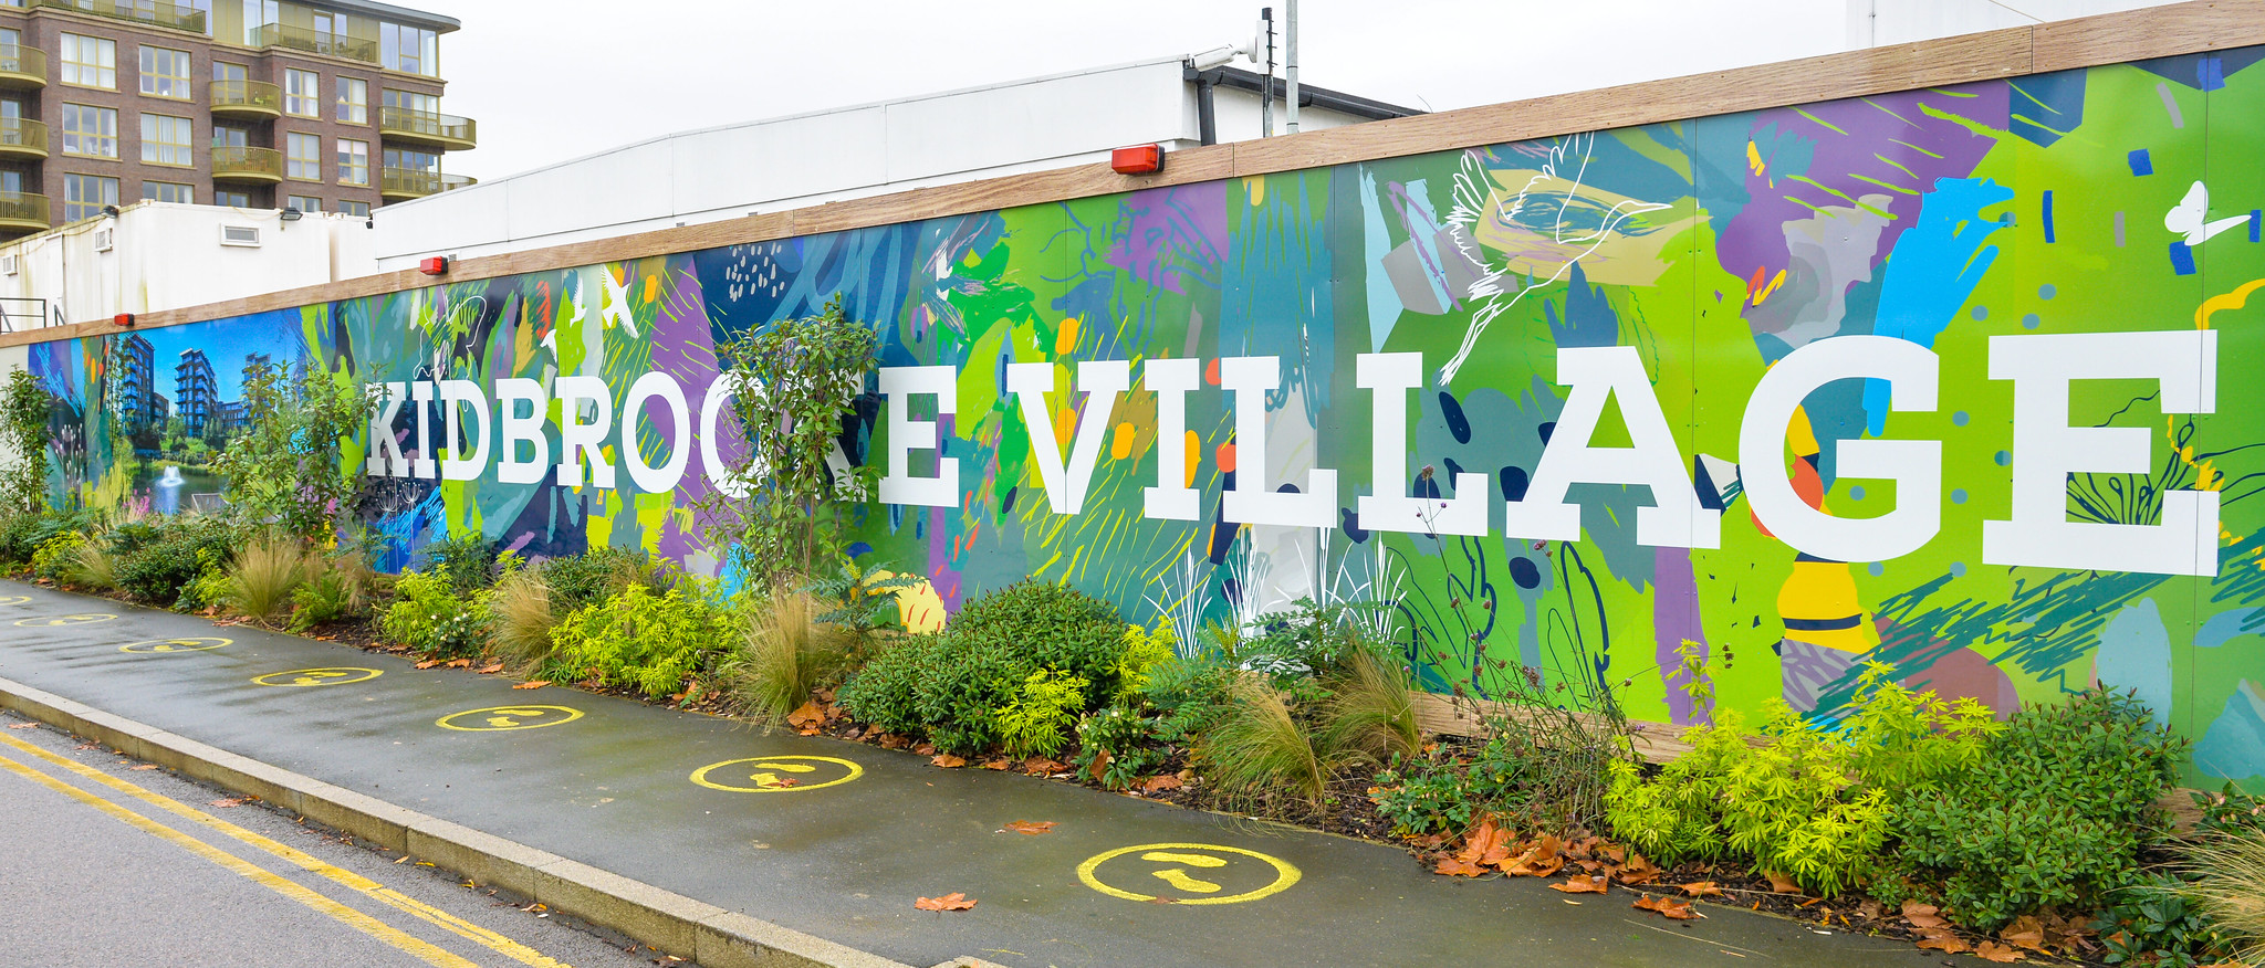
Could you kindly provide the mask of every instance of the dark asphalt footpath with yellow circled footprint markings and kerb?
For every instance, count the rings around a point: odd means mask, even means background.
[[[1672,923],[1619,889],[1438,878],[1382,844],[14,581],[0,703],[711,966],[1939,963],[1730,907]],[[915,909],[949,893],[976,907]]]

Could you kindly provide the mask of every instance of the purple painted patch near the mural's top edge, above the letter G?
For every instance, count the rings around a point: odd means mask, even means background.
[[[1807,206],[1848,206],[1839,195],[1887,199],[1884,210],[1891,217],[1880,231],[1880,247],[1873,253],[1873,265],[1878,265],[1880,258],[1896,251],[1896,237],[1918,224],[1923,192],[1932,192],[1937,179],[1973,174],[1982,156],[1998,145],[1995,138],[1968,131],[1959,120],[1934,118],[1928,109],[2002,131],[2009,118],[2007,97],[2007,84],[1971,84],[1755,111],[1751,131],[1773,124],[1778,131],[1814,142],[1814,154],[1803,172],[1764,170],[1755,174],[1740,158],[1740,170],[1746,172],[1746,195],[1753,201],[1740,208],[1715,244],[1724,271],[1753,278],[1755,269],[1762,269],[1762,276],[1771,278],[1787,269],[1792,253],[1785,247],[1785,224],[1810,219],[1814,213]],[[1719,149],[1733,152],[1730,145]],[[1744,149],[1744,145],[1735,147],[1740,156]],[[1817,185],[1794,181],[1794,176]],[[1921,195],[1880,188],[1880,181],[1916,188]]]

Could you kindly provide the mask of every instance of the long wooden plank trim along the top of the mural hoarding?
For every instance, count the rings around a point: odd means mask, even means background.
[[[1658,124],[1737,111],[1778,109],[1787,104],[1971,84],[2260,43],[2265,43],[2265,0],[2190,0],[2170,7],[2100,14],[2036,27],[1961,34],[1939,41],[1853,50],[1665,81],[1626,84],[1617,88],[1581,90],[1511,104],[1395,118],[1255,142],[1196,147],[1173,152],[1164,172],[1153,176],[1126,176],[1101,165],[1078,165],[954,185],[913,188],[904,192],[750,215],[743,219],[707,222],[684,228],[659,228],[636,235],[482,256],[451,267],[446,280],[471,283],[523,271],[573,269],[677,251],[770,242],[793,235],[917,222],[994,208],[1074,201],[1139,188],[1452,152],[1576,131]],[[340,299],[417,289],[421,285],[437,285],[437,280],[412,271],[378,274],[224,303],[149,312],[140,319],[140,326],[156,328],[197,323],[247,312],[288,310]],[[0,332],[0,346],[77,339],[109,330],[109,321],[91,321],[29,332]]]

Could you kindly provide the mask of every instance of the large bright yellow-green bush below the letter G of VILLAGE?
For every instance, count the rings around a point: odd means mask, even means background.
[[[1651,780],[1615,762],[1606,819],[1658,859],[1746,857],[1828,898],[1860,884],[1887,844],[1894,796],[1934,789],[1980,760],[1998,731],[1973,699],[1946,703],[1884,674],[1884,665],[1864,672],[1839,733],[1771,701],[1760,746],[1728,710],[1690,731],[1692,751]]]

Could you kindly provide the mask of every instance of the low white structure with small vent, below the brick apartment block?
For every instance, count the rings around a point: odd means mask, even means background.
[[[258,247],[220,242],[222,226],[258,231]],[[109,228],[109,249],[102,233]],[[378,271],[367,219],[306,215],[283,222],[263,208],[143,201],[118,217],[86,219],[0,244],[0,296],[43,299],[45,323],[86,323],[120,312],[159,312],[245,299]],[[23,312],[25,303],[9,303]],[[25,328],[9,319],[9,328]]]

